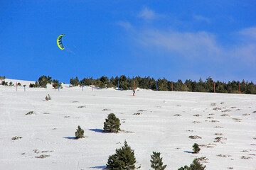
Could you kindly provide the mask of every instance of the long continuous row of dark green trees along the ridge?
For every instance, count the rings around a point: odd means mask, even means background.
[[[203,81],[201,78],[199,81],[192,81],[187,79],[186,81],[169,81],[167,79],[154,79],[151,77],[126,77],[122,75],[120,77],[100,77],[98,79],[92,79],[92,77],[87,77],[82,80],[79,80],[78,77],[70,79],[70,84],[73,86],[90,86],[94,85],[100,88],[111,88],[118,87],[122,90],[128,90],[134,88],[139,89],[151,89],[158,91],[193,91],[193,92],[214,92],[215,93],[226,93],[226,94],[256,94],[256,84],[252,81],[248,82],[245,80],[240,81],[228,81],[228,83],[223,81],[213,81],[211,77],[208,77],[206,81]],[[157,84],[157,86],[156,86]]]

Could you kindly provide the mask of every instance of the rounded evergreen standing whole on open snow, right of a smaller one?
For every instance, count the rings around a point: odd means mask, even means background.
[[[105,132],[118,132],[120,130],[120,125],[119,118],[117,118],[114,113],[110,113],[107,115],[103,130]]]

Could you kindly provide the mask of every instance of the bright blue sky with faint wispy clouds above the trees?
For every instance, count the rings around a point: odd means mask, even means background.
[[[256,1],[0,0],[0,76],[256,81]],[[65,34],[60,50],[58,35]]]

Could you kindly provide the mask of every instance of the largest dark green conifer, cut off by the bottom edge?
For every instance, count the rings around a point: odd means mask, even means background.
[[[116,149],[115,154],[110,155],[106,165],[109,170],[124,170],[135,169],[135,163],[134,150],[124,141],[124,146]]]

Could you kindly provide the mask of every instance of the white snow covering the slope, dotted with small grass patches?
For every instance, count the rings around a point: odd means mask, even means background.
[[[0,86],[0,169],[104,169],[124,140],[141,169],[151,169],[153,151],[161,152],[166,169],[189,166],[196,157],[207,157],[206,169],[256,169],[256,95],[139,89],[132,96],[90,86],[82,91],[64,84],[58,91],[49,84],[29,88],[34,81],[5,81],[27,86]],[[51,101],[45,100],[48,94]],[[121,121],[122,132],[102,132],[110,113]],[[86,137],[74,140],[78,125]],[[201,139],[189,138],[196,135]],[[15,136],[22,139],[11,140]],[[215,137],[223,138],[214,142]],[[199,154],[189,153],[195,142]],[[49,157],[36,158],[41,155]]]

